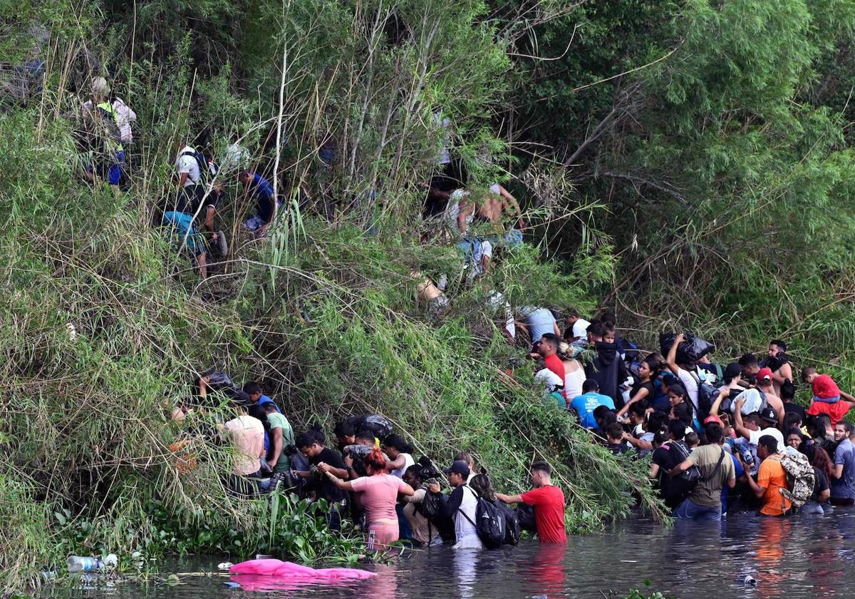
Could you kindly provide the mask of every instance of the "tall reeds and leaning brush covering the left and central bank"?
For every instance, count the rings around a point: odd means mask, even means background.
[[[11,500],[0,504],[0,588],[72,552],[113,551],[123,567],[168,551],[357,555],[302,506],[262,517],[267,501],[230,498],[228,448],[170,421],[212,365],[261,381],[298,430],[383,412],[438,461],[468,449],[502,489],[525,488],[530,460],[550,460],[576,531],[627,514],[633,492],[658,513],[643,465],[541,404],[528,368],[505,373],[524,352],[485,308],[492,288],[515,305],[591,306],[590,285],[611,276],[608,249],[566,275],[532,246],[504,252],[473,287],[452,247],[421,244],[422,181],[445,143],[434,113],[453,123],[473,186],[506,178],[493,120],[512,65],[486,5],[2,8],[14,26],[3,90],[24,92],[4,93],[0,116],[0,477]],[[16,65],[33,60],[44,76],[27,89]],[[139,116],[127,191],[80,178],[75,115],[92,74]],[[232,248],[205,282],[153,226],[174,193],[176,151],[201,132],[217,157],[239,141],[289,199],[267,240],[247,239],[246,200],[223,169],[218,219]],[[415,270],[449,274],[445,317],[426,316]],[[176,453],[181,441],[192,445]]]

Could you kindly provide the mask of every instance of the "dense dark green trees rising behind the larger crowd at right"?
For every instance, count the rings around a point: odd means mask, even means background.
[[[568,165],[572,202],[608,206],[604,305],[647,347],[675,323],[722,361],[781,336],[855,383],[853,27],[849,1],[628,0],[536,30],[540,56],[578,44],[525,62],[520,137]],[[575,251],[582,225],[546,240]]]

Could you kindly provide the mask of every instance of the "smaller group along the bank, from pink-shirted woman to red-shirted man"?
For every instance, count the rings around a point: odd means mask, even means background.
[[[173,419],[183,423],[195,409],[218,405],[210,394],[225,395],[234,417],[218,423],[217,429],[233,448],[225,480],[233,495],[257,498],[280,489],[308,497],[333,530],[349,516],[374,550],[388,549],[396,541],[492,549],[495,539],[486,539],[478,525],[485,509],[501,520],[499,544],[516,544],[521,526],[536,533],[541,543],[566,541],[563,491],[551,483],[551,466],[544,461],[530,468],[532,489],[503,495],[493,489],[484,468],[476,469],[472,455],[460,452],[443,471],[451,487],[444,494],[433,461],[427,456],[416,460],[410,444],[379,414],[339,422],[333,429],[334,446],[329,447],[318,425],[295,436],[280,407],[258,383],[238,388],[219,372],[206,374],[198,383],[199,400],[193,407],[174,408]],[[513,504],[519,507],[508,507]]]

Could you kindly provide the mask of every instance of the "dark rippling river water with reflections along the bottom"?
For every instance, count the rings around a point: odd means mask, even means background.
[[[169,564],[174,572],[210,571],[215,559]],[[362,597],[363,599],[624,596],[643,588],[673,597],[853,597],[855,512],[787,520],[731,515],[721,525],[646,519],[603,534],[570,537],[566,547],[523,542],[516,549],[418,550],[392,566],[370,566],[374,578],[340,586],[276,584],[270,577],[182,575],[180,584],[122,583],[108,590],[55,590],[63,597],[238,599],[246,596]],[[163,568],[163,575],[168,573]],[[746,577],[752,577],[756,583]],[[236,581],[240,589],[223,586]]]

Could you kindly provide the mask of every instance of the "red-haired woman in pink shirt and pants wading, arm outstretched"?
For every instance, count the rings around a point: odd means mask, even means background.
[[[321,465],[318,465],[324,470]],[[374,448],[365,456],[365,469],[369,476],[343,481],[333,472],[327,477],[339,489],[361,494],[359,499],[365,507],[365,521],[369,529],[369,550],[389,549],[389,543],[398,540],[398,514],[395,503],[398,494],[413,495],[413,488],[398,477],[386,473],[386,458],[380,448]]]

